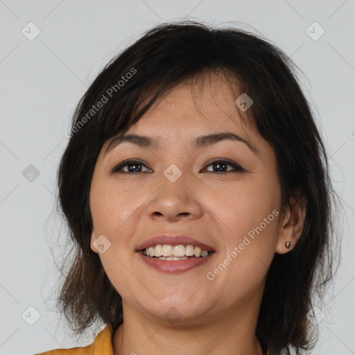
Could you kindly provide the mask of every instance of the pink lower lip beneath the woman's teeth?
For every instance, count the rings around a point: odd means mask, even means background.
[[[200,257],[200,258],[189,258],[187,260],[159,260],[151,257],[146,257],[146,255],[138,252],[139,257],[152,268],[160,272],[165,272],[166,274],[178,274],[180,272],[189,271],[197,266],[202,265],[202,263],[206,263],[213,257],[215,254],[211,252],[207,257]]]

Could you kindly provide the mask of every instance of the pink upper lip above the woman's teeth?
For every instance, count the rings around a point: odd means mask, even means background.
[[[195,247],[201,248],[201,250],[207,250],[209,252],[215,251],[210,245],[202,243],[200,241],[196,241],[196,239],[191,238],[191,236],[184,236],[184,235],[160,235],[160,236],[153,236],[143,243],[137,246],[137,251],[149,248],[153,245],[193,245]]]

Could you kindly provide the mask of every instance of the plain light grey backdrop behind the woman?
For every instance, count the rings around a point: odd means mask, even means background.
[[[354,15],[354,0],[0,0],[0,354],[85,346],[105,326],[74,339],[53,311],[53,252],[65,238],[52,218],[64,133],[113,55],[155,24],[187,18],[259,31],[304,72],[344,205],[343,259],[312,354],[355,354]]]

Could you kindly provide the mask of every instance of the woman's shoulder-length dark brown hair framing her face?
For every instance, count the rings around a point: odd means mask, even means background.
[[[95,320],[110,323],[114,330],[123,322],[121,296],[90,248],[89,191],[103,144],[123,135],[175,85],[222,71],[226,78],[236,78],[239,92],[254,101],[244,116],[275,150],[282,210],[296,191],[306,202],[300,240],[290,252],[275,254],[268,270],[256,334],[276,354],[291,354],[292,349],[301,354],[313,347],[317,338],[309,321],[313,295],[322,299],[334,276],[334,256],[340,252],[332,203],[337,195],[296,68],[259,35],[196,21],[155,26],[103,68],[76,107],[58,168],[58,210],[74,243],[73,257],[62,267],[67,270],[58,309],[74,332],[83,332]],[[103,105],[94,110],[98,102]]]

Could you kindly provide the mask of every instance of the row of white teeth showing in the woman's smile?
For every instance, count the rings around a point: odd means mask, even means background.
[[[146,248],[146,255],[148,257],[157,257],[159,260],[187,260],[187,257],[207,257],[208,250],[201,250],[201,248],[193,245],[155,245]]]

